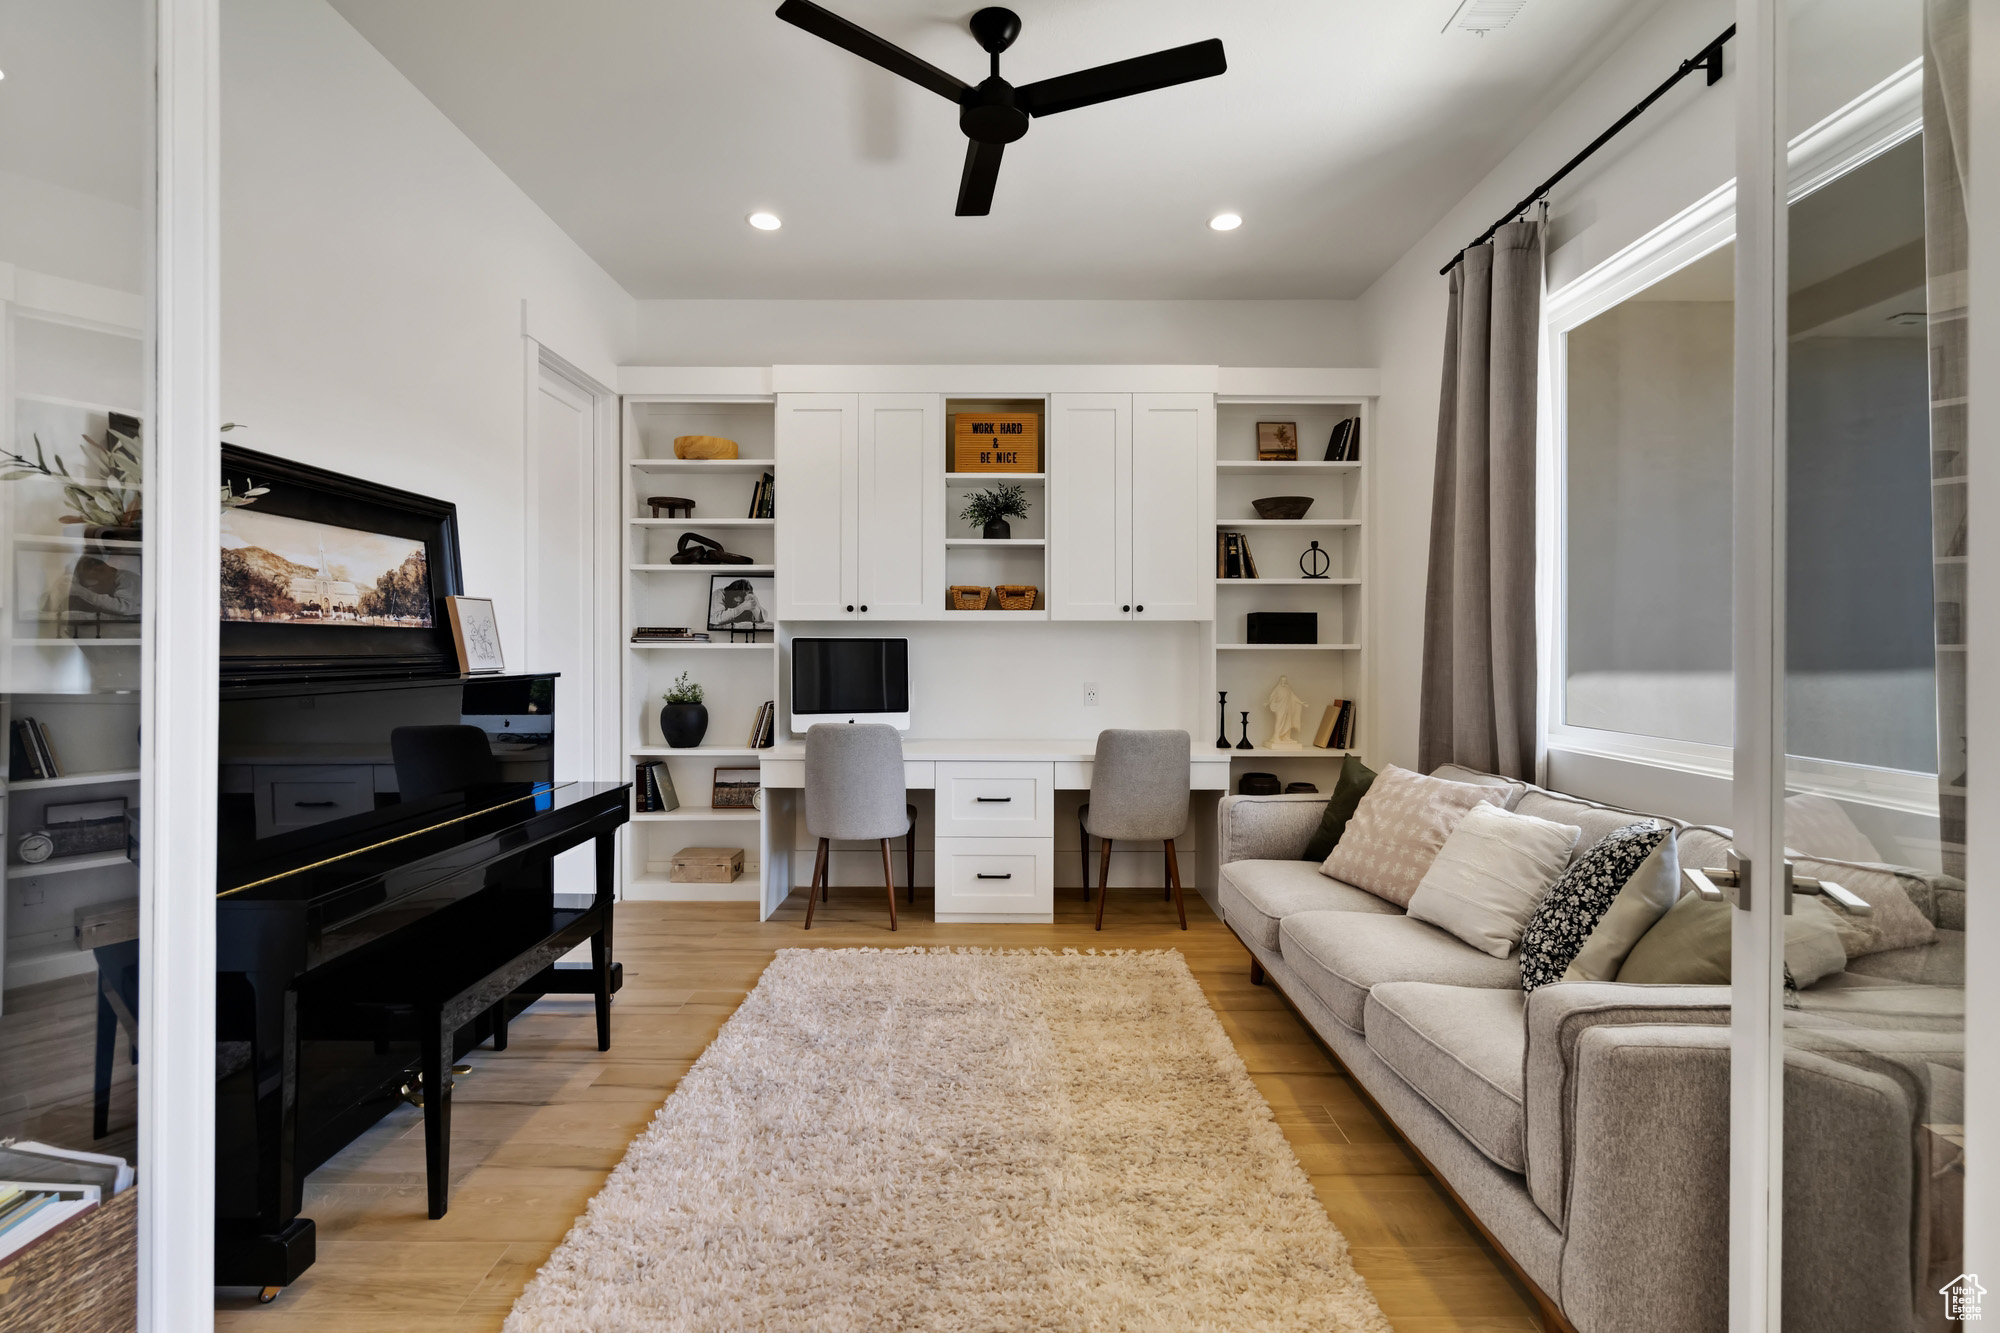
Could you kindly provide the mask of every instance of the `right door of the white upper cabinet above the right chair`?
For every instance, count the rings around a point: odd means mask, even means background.
[[[1216,400],[1132,394],[1132,616],[1208,620],[1216,604]]]

